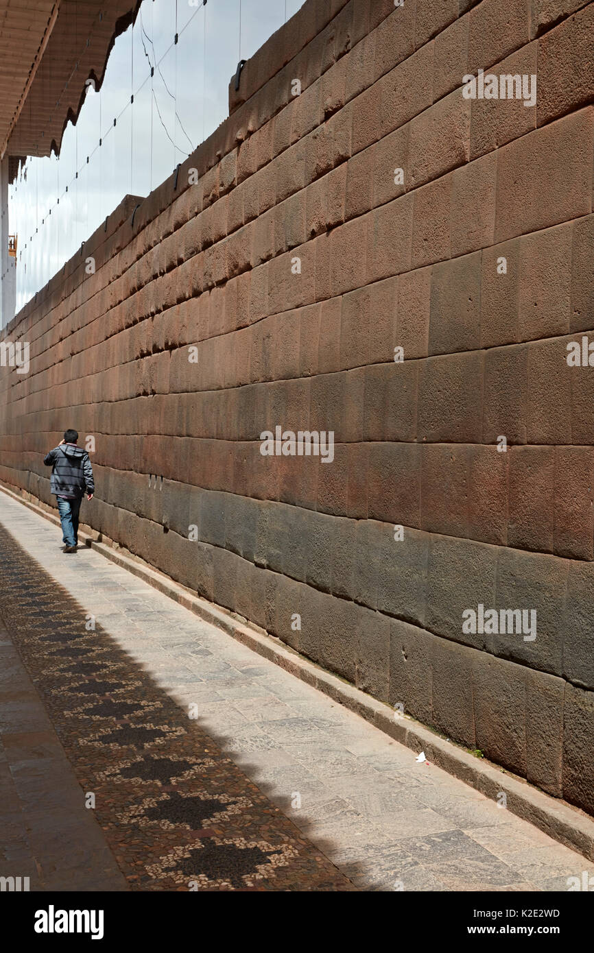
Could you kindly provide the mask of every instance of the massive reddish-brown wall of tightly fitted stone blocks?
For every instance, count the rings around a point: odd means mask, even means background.
[[[51,502],[43,455],[93,436],[95,530],[590,812],[593,12],[308,0],[0,369],[6,484]],[[465,98],[479,69],[536,103]],[[277,426],[334,459],[263,456]]]

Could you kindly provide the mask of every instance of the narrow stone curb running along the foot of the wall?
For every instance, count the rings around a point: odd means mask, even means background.
[[[49,507],[48,510],[42,509],[31,499],[21,497],[1,482],[0,490],[8,497],[29,507],[38,516],[49,519],[57,526],[60,525],[59,518],[53,515]],[[427,760],[437,764],[459,781],[474,787],[487,798],[497,801],[498,796],[501,797],[504,794],[506,809],[512,814],[534,824],[555,841],[560,841],[565,846],[579,851],[586,860],[594,861],[594,820],[579,808],[573,808],[564,801],[551,798],[526,781],[503,772],[502,768],[489,761],[475,758],[453,742],[440,738],[419,721],[406,715],[399,716],[389,705],[365,695],[349,682],[338,679],[337,676],[300,656],[284,642],[256,628],[247,620],[235,616],[227,609],[204,598],[194,596],[189,589],[174,582],[165,574],[154,570],[142,560],[127,555],[126,550],[115,549],[107,543],[99,542],[83,531],[79,531],[79,537],[102,556],[148,582],[163,595],[173,598],[175,602],[237,639],[264,659],[275,662],[297,679],[305,681],[332,700],[338,701],[345,708],[389,735],[390,738],[415,752],[424,751]]]

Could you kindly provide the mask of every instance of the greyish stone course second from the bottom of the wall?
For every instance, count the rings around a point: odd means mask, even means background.
[[[397,540],[392,524],[374,519],[336,517],[168,480],[159,490],[149,487],[146,476],[140,481],[138,475],[106,468],[97,473],[109,475],[113,503],[94,497],[84,504],[83,519],[226,608],[236,606],[229,601],[230,581],[221,574],[245,574],[242,563],[249,561],[594,690],[594,563],[408,526]],[[41,498],[53,502],[45,493]],[[159,500],[158,519],[148,515],[153,498]],[[188,538],[191,526],[195,541]],[[215,559],[214,549],[241,559]],[[485,609],[535,609],[537,639],[462,632],[462,612],[477,610],[480,603]]]

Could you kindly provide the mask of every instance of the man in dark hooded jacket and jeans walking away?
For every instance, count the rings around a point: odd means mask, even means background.
[[[80,503],[84,493],[92,499],[95,488],[89,454],[77,446],[77,439],[75,430],[67,430],[43,461],[51,467],[51,493],[57,499],[65,553],[76,552]]]

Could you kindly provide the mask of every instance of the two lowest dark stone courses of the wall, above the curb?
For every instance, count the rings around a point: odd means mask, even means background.
[[[200,495],[211,497],[211,525],[215,505],[222,508],[216,519],[226,539],[227,520],[241,520],[245,500]],[[408,527],[397,541],[394,527],[376,520],[247,502],[256,564],[98,499],[83,518],[92,513],[102,532],[133,554],[374,698],[403,704],[446,737],[594,813],[594,785],[582,780],[580,767],[580,752],[591,751],[594,737],[594,682],[587,679],[594,629],[586,618],[587,605],[594,608],[592,564]],[[267,551],[271,525],[277,543]],[[462,611],[479,603],[536,608],[537,639],[462,633]],[[572,685],[563,667],[588,683]]]

